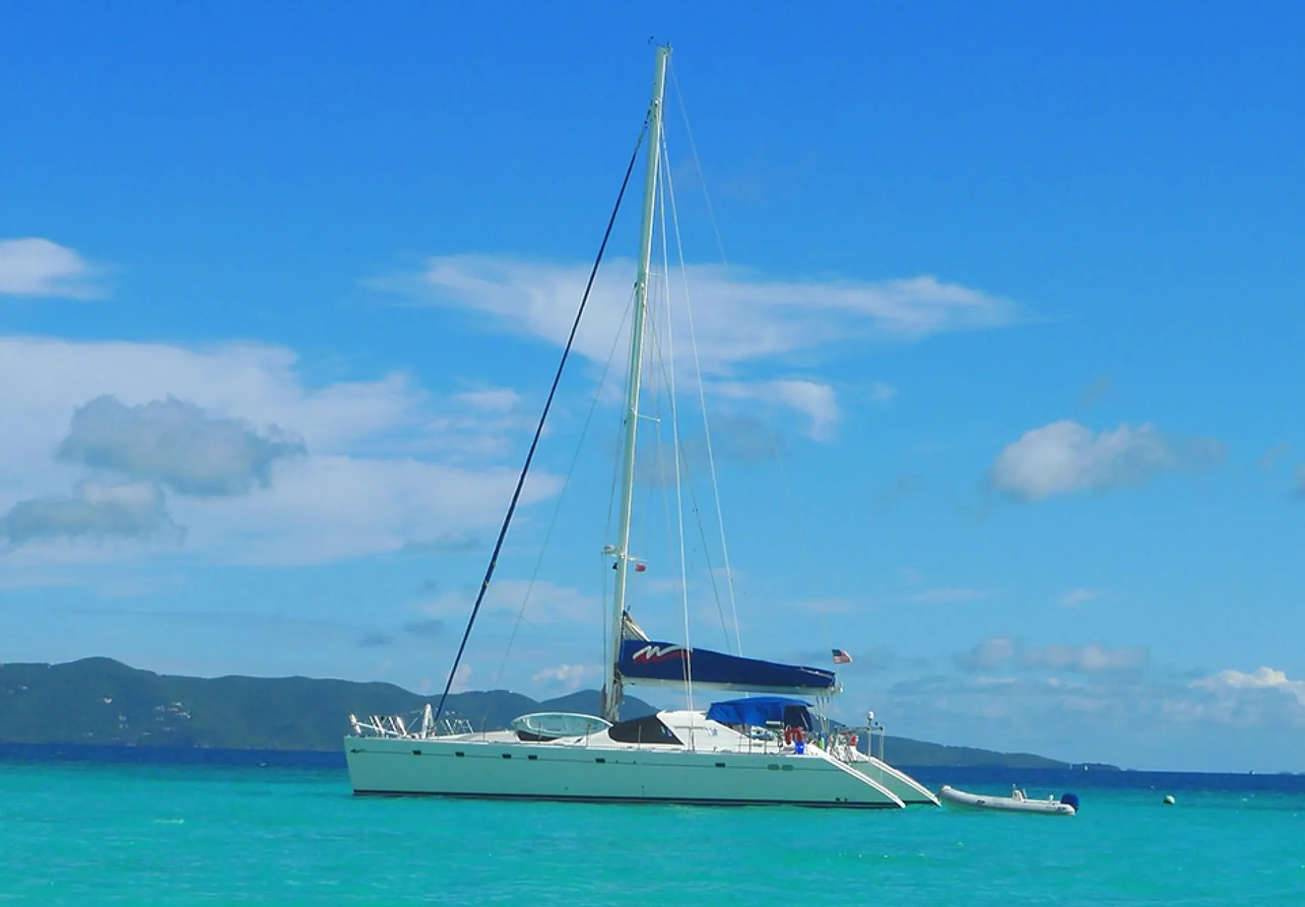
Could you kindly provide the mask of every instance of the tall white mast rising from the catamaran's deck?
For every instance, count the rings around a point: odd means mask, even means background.
[[[656,204],[656,177],[662,150],[662,99],[666,95],[666,65],[671,46],[656,48],[652,74],[652,103],[649,107],[647,168],[643,176],[643,219],[639,223],[639,258],[634,278],[634,315],[630,320],[630,372],[625,385],[625,437],[621,448],[621,508],[617,522],[616,590],[612,594],[611,676],[603,696],[603,718],[616,720],[621,705],[621,639],[625,615],[625,587],[630,568],[630,518],[634,502],[634,441],[639,424],[639,380],[643,373],[643,320],[649,301],[649,269],[652,258],[652,215]]]

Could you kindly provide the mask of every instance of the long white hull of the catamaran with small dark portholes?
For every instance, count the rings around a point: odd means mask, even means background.
[[[364,795],[863,809],[937,803],[895,769],[867,765],[853,770],[818,746],[799,756],[779,746],[746,752],[594,739],[526,743],[499,732],[428,739],[351,736],[345,739],[345,753],[354,792]],[[893,788],[906,792],[908,800]]]

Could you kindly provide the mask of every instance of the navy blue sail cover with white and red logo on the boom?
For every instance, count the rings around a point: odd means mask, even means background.
[[[626,680],[645,684],[683,684],[692,671],[694,686],[757,693],[838,692],[833,671],[647,639],[625,639],[621,643],[620,671]]]

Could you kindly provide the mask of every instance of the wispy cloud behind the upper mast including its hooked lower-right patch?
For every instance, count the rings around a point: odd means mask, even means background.
[[[1017,318],[1017,307],[979,290],[942,283],[933,277],[911,279],[769,281],[741,269],[696,265],[686,269],[693,303],[693,331],[684,305],[684,281],[677,271],[666,287],[651,292],[647,355],[669,359],[673,371],[693,373],[693,350],[709,378],[706,390],[735,399],[761,399],[803,412],[814,440],[834,436],[839,408],[834,389],[805,378],[743,375],[762,363],[830,343],[868,338],[912,342],[955,330],[997,328]],[[634,266],[609,261],[594,284],[585,318],[576,335],[577,354],[606,364],[626,324]],[[474,312],[495,328],[565,343],[576,307],[589,278],[587,266],[526,261],[510,256],[442,256],[429,258],[423,271],[368,281],[414,304],[448,305]],[[666,305],[669,296],[669,316]],[[694,341],[694,342],[690,342]],[[615,342],[615,345],[613,345]],[[897,389],[874,381],[870,402],[891,399]]]

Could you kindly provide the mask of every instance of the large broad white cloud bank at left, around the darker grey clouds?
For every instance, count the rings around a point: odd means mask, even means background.
[[[268,488],[168,502],[189,530],[185,551],[202,557],[320,562],[397,551],[414,540],[462,538],[497,525],[512,492],[515,463],[493,469],[483,454],[472,465],[461,459],[467,450],[497,450],[505,432],[517,427],[505,425],[497,414],[478,422],[467,402],[437,399],[399,373],[312,386],[295,354],[279,346],[187,348],[0,337],[0,425],[23,427],[5,436],[0,513],[23,500],[65,497],[93,478],[86,475],[87,458],[68,463],[55,453],[78,407],[106,394],[120,402],[115,412],[154,412],[151,406],[172,397],[184,401],[191,415],[202,410],[205,424],[279,425],[303,438],[307,457],[241,461],[254,470],[253,484],[266,479]],[[121,444],[110,446],[114,462],[97,459],[93,466],[194,489],[189,472],[171,466],[161,471],[154,459],[141,461],[138,445],[130,457]],[[97,450],[108,448],[100,444]],[[536,474],[526,502],[556,488],[556,479]],[[7,562],[100,560],[111,553],[120,552],[33,536]]]

